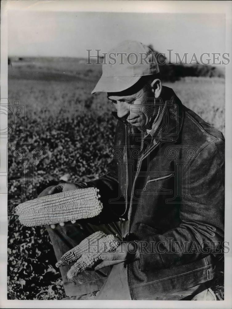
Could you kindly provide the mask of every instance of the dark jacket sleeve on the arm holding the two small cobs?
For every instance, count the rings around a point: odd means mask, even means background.
[[[222,254],[224,159],[222,140],[211,142],[193,159],[189,173],[185,173],[181,182],[183,190],[190,190],[189,197],[183,197],[180,203],[181,223],[162,235],[144,233],[142,241],[137,242],[141,271],[169,268],[209,254]],[[152,250],[146,250],[146,244]]]

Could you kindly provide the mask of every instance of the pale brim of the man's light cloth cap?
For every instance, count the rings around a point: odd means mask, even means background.
[[[141,76],[133,77],[101,77],[91,92],[120,92],[132,87]]]

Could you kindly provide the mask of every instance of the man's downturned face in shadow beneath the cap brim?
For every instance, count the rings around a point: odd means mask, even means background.
[[[146,125],[150,112],[146,108],[146,100],[154,99],[152,88],[142,88],[132,95],[123,95],[122,93],[108,93],[108,99],[112,101],[119,118],[124,118],[128,123],[136,127]]]

